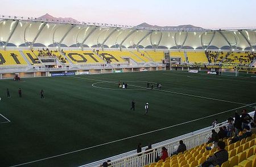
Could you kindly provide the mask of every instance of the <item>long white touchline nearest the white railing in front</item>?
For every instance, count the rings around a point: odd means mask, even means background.
[[[191,121],[187,121],[187,122],[183,122],[183,123],[178,123],[178,124],[176,124],[176,125],[172,125],[172,126],[168,126],[168,127],[163,127],[163,128],[161,128],[161,129],[157,129],[157,130],[153,130],[153,131],[144,132],[143,134],[138,134],[138,135],[130,136],[130,137],[127,137],[127,138],[114,140],[114,141],[108,142],[108,143],[102,143],[102,144],[94,145],[94,146],[92,146],[92,147],[86,147],[86,148],[78,149],[78,150],[76,150],[76,151],[71,151],[71,152],[62,153],[62,154],[56,155],[56,156],[46,157],[46,158],[44,158],[44,159],[39,159],[39,160],[35,160],[35,161],[30,161],[30,162],[26,162],[26,163],[18,164],[18,165],[13,165],[13,166],[10,166],[10,167],[32,164],[32,163],[34,163],[34,162],[39,162],[39,161],[44,161],[44,160],[48,160],[48,159],[53,159],[53,158],[56,158],[56,157],[65,156],[65,155],[69,155],[69,154],[76,153],[76,152],[80,152],[80,151],[85,151],[85,150],[87,150],[87,149],[92,149],[92,148],[100,147],[100,146],[102,146],[102,145],[108,145],[108,144],[112,144],[112,143],[121,142],[121,141],[123,141],[123,140],[131,139],[131,138],[136,138],[136,137],[142,136],[142,135],[151,134],[151,133],[156,132],[156,131],[162,131],[162,130],[170,129],[171,127],[176,127],[176,126],[184,125],[184,124],[187,124],[187,123],[196,122],[196,121],[199,121],[199,120],[201,120],[201,119],[213,117],[213,116],[215,116],[215,115],[220,115],[220,114],[223,114],[223,113],[228,113],[228,112],[230,112],[230,111],[237,110],[237,109],[241,109],[241,108],[245,108],[246,106],[250,106],[250,105],[254,105],[254,104],[256,104],[256,102],[251,103],[251,104],[248,104],[248,105],[240,106],[240,107],[238,107],[238,108],[226,110],[226,111],[224,111],[224,112],[220,112],[220,113],[217,113],[217,114],[208,115],[208,116],[206,116],[206,117],[197,118],[197,119],[193,119],[193,120],[191,120]]]

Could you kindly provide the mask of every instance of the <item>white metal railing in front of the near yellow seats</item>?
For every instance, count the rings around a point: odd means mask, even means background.
[[[253,116],[254,112],[249,113]],[[219,128],[222,126],[227,126],[228,122],[222,122],[216,125],[214,128],[212,126],[205,127],[204,129],[190,132],[185,135],[178,136],[173,139],[166,140],[164,142],[156,143],[152,145],[152,149],[137,153],[136,150],[123,153],[122,155],[117,155],[114,157],[109,157],[108,159],[92,162],[90,164],[82,165],[79,167],[93,167],[100,166],[103,162],[111,160],[112,167],[130,167],[130,166],[144,166],[151,164],[155,161],[155,157],[160,154],[162,147],[166,147],[168,150],[168,155],[176,151],[177,146],[179,145],[179,140],[183,140],[184,144],[187,146],[187,149],[196,147],[208,142],[208,138],[212,135],[212,129],[218,132]],[[142,148],[143,150],[146,147]],[[149,152],[149,153],[148,153]]]

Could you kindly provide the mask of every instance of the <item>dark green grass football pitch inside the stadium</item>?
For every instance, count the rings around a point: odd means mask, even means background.
[[[127,90],[118,88],[118,80],[128,84]],[[162,90],[146,89],[147,82],[161,83]],[[174,138],[253,104],[255,86],[256,78],[171,71],[0,80],[0,114],[11,121],[0,123],[0,166],[31,161],[24,166],[79,166],[131,151],[139,142],[144,147]],[[133,99],[135,111],[130,110]],[[212,114],[217,115],[204,118]],[[197,118],[202,119],[139,135]],[[134,135],[139,136],[129,138]]]

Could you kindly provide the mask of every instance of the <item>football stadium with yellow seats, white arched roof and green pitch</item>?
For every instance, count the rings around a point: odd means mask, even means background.
[[[1,166],[199,166],[217,152],[205,150],[213,129],[236,111],[254,117],[254,49],[252,27],[1,15]],[[187,151],[171,156],[180,140]],[[256,165],[255,134],[229,140],[221,166]],[[155,162],[163,147],[167,159]]]

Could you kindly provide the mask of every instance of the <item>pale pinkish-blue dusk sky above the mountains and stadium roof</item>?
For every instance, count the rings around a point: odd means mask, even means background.
[[[192,24],[203,28],[256,27],[255,0],[0,0],[1,15],[46,13],[84,22],[138,25]]]

